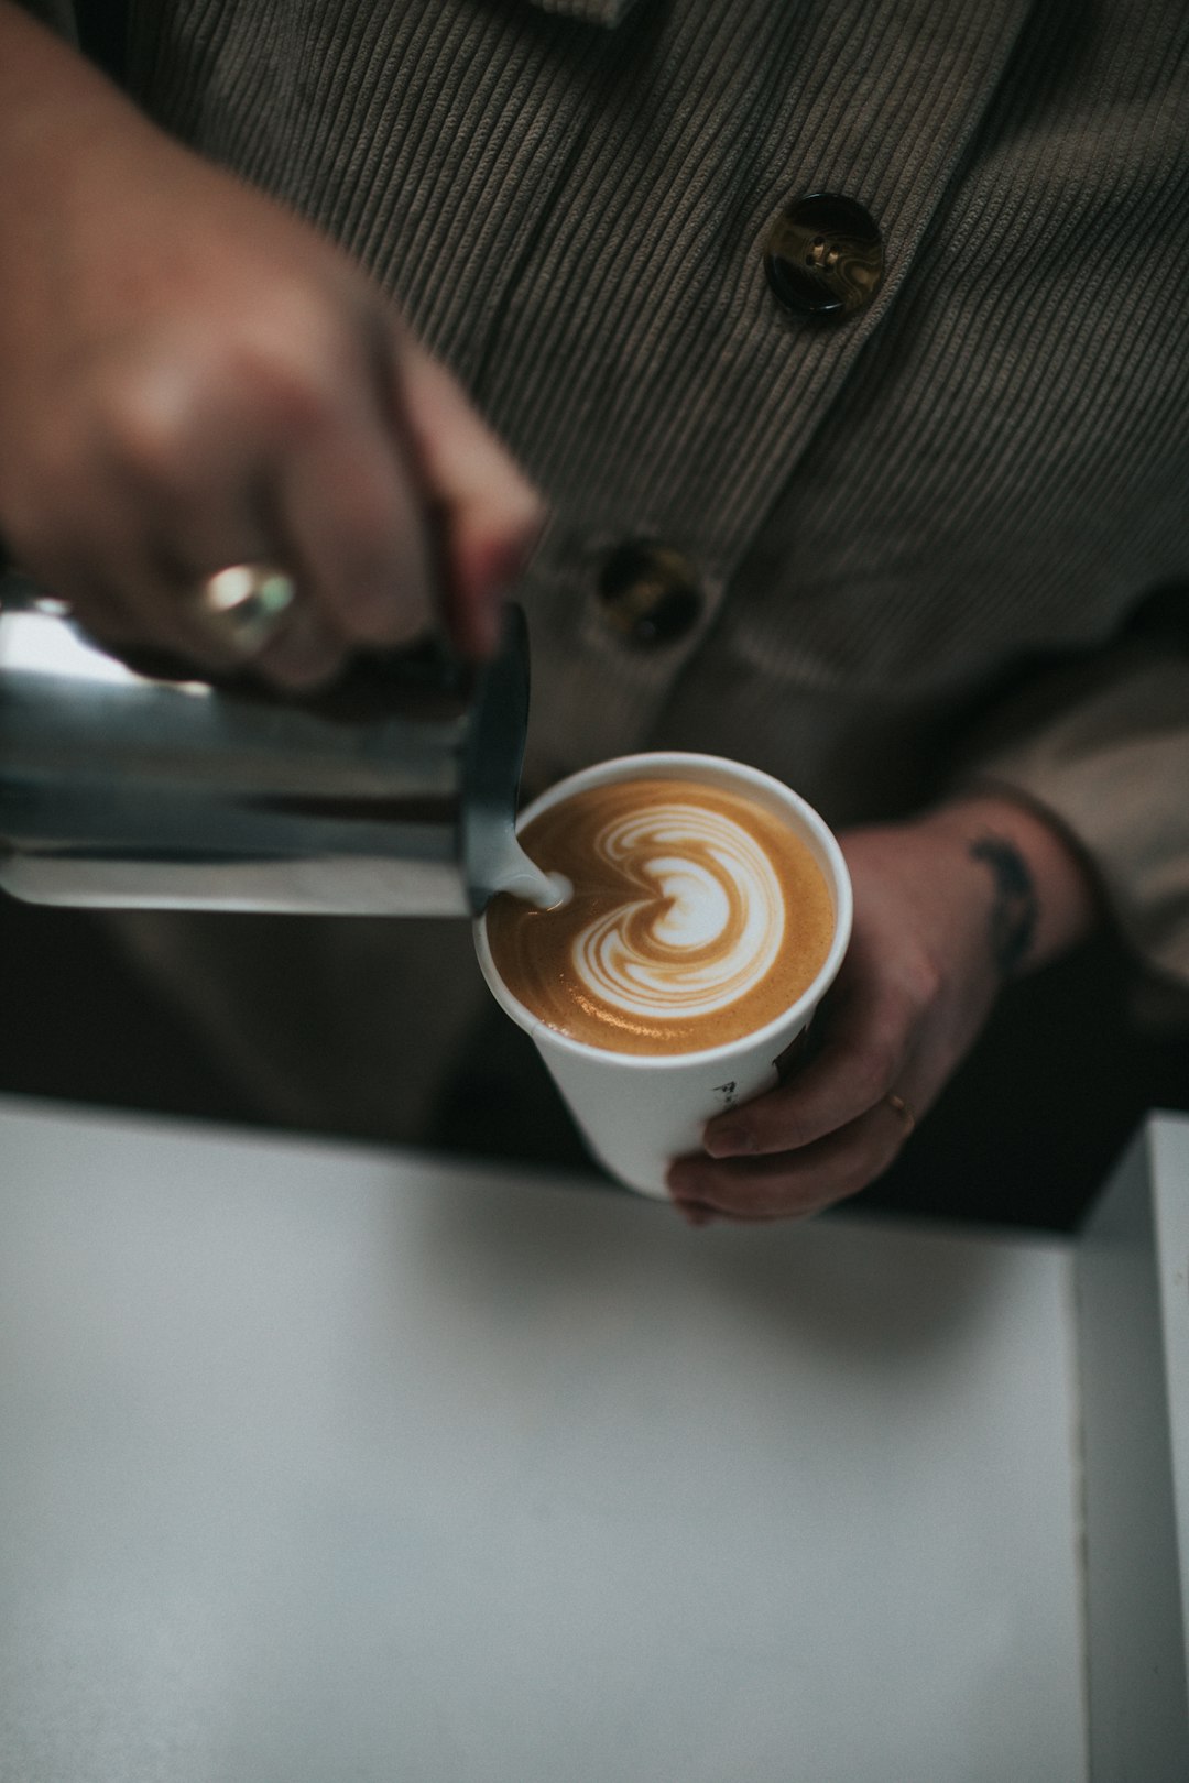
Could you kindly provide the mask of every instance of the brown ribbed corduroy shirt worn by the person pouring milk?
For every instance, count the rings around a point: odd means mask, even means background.
[[[551,496],[535,779],[711,747],[847,822],[964,751],[1189,977],[1184,594],[1119,640],[1189,583],[1182,0],[578,4],[134,0],[132,84],[371,266]],[[888,255],[832,328],[761,269],[822,189]],[[708,594],[654,653],[594,594],[642,535]]]

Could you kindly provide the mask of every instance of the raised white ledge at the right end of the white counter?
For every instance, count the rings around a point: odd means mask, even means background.
[[[1075,1250],[1095,1783],[1189,1778],[1189,1120],[1150,1116]]]

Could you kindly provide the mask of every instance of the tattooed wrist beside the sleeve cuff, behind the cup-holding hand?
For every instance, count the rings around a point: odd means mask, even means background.
[[[1098,925],[1087,859],[1057,818],[1023,797],[972,792],[920,822],[986,883],[989,945],[1004,979],[1057,959]]]

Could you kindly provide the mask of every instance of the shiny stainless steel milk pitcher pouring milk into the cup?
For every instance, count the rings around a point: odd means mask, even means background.
[[[0,581],[0,886],[45,904],[476,915],[524,861],[524,615],[316,699],[135,674]],[[531,895],[531,893],[529,893]]]

